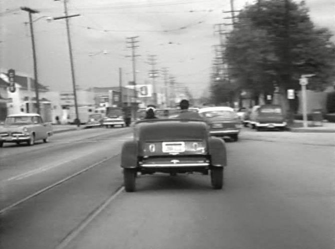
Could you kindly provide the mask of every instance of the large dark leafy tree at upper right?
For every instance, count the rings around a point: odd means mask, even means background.
[[[304,1],[259,0],[238,15],[227,36],[229,74],[254,94],[299,88],[301,74],[313,73],[308,87],[322,90],[335,78],[335,44],[326,28],[315,28]]]

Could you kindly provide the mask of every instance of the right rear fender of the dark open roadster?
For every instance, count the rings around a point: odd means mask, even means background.
[[[227,153],[224,140],[218,137],[209,137],[208,146],[211,166],[226,166]]]

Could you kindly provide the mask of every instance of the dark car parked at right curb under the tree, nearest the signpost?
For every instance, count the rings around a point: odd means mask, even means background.
[[[260,129],[280,129],[286,127],[286,120],[282,113],[282,108],[278,104],[264,104],[258,108],[255,128]]]

